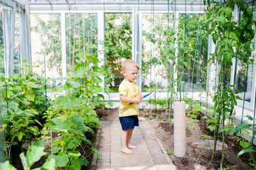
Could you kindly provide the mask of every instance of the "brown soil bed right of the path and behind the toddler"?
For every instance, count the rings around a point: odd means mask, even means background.
[[[210,149],[202,149],[197,147],[197,142],[205,140],[214,140],[213,133],[207,128],[206,119],[203,115],[198,116],[198,120],[186,116],[186,156],[174,156],[174,124],[173,120],[168,120],[165,111],[140,110],[141,117],[146,118],[149,124],[152,125],[156,137],[159,138],[166,152],[169,154],[176,169],[219,169],[221,150],[216,151],[215,159],[211,163],[213,151]],[[97,111],[100,120],[118,120],[117,109],[105,109]],[[172,113],[171,113],[172,115]],[[172,116],[171,116],[172,117]],[[221,141],[221,139],[218,139]],[[225,139],[226,149],[224,154],[225,169],[252,169],[249,166],[249,154],[242,154],[238,157],[238,152],[242,149],[239,145],[240,138],[235,135],[229,135]]]

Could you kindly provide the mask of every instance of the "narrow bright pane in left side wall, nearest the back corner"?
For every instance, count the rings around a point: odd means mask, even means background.
[[[21,63],[21,32],[20,32],[20,13],[15,14],[14,28],[14,64]],[[20,73],[19,67],[14,67],[14,73]]]

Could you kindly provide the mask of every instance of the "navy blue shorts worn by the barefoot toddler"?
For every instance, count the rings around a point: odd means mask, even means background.
[[[133,129],[134,126],[139,126],[139,119],[137,115],[119,117],[119,120],[122,125],[122,130],[129,130]]]

